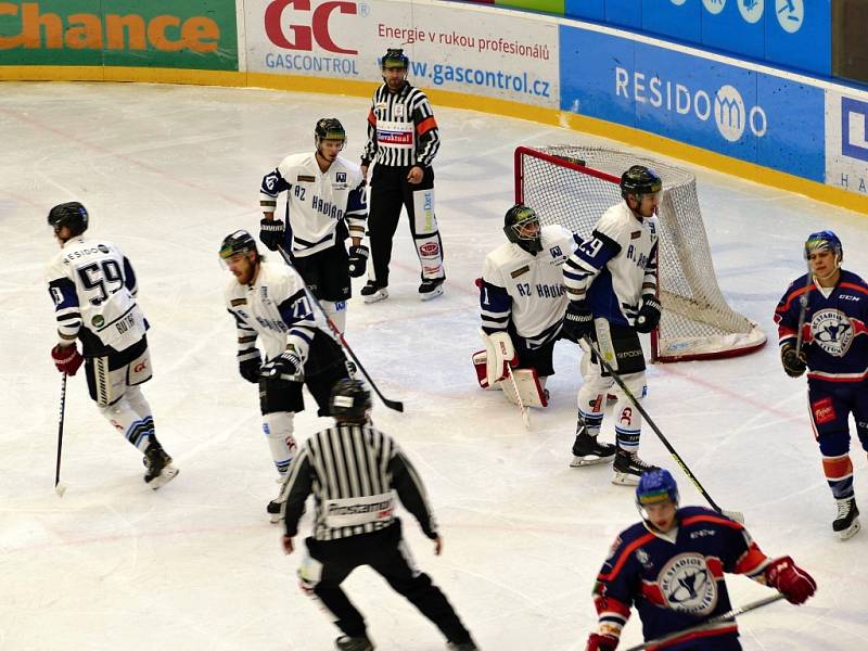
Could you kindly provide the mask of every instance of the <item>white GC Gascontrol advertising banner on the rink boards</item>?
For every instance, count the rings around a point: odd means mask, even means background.
[[[381,82],[380,58],[403,47],[421,88],[558,106],[550,18],[419,1],[247,0],[245,26],[251,73]]]

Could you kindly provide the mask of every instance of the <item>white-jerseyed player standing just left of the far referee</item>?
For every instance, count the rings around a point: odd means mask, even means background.
[[[340,155],[346,144],[340,120],[317,122],[314,144],[316,151],[286,156],[263,178],[259,239],[271,251],[282,247],[290,254],[308,290],[344,332],[349,277],[363,276],[368,263],[368,247],[361,244],[368,217],[365,177],[358,165]],[[285,224],[275,219],[282,192]]]

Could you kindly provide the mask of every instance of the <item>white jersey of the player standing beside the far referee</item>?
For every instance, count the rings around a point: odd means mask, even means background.
[[[347,233],[365,237],[365,177],[358,165],[343,156],[337,156],[326,173],[320,171],[316,152],[286,156],[263,178],[261,209],[275,210],[281,192],[286,192],[284,247],[293,255],[305,257],[324,251]]]

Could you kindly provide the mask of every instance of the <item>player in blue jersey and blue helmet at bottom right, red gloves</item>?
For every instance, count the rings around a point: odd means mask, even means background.
[[[703,507],[679,508],[678,486],[667,470],[642,474],[636,507],[642,521],[618,534],[597,576],[599,624],[586,651],[617,648],[631,607],[646,641],[666,638],[654,649],[741,649],[735,621],[702,626],[731,610],[725,573],[776,588],[791,603],[804,603],[817,589],[790,557],[766,557],[738,522]]]

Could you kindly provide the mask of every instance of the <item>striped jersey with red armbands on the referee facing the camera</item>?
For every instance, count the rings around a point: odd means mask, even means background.
[[[398,92],[383,84],[368,113],[368,142],[361,164],[430,167],[441,146],[439,129],[425,93],[405,81]]]

